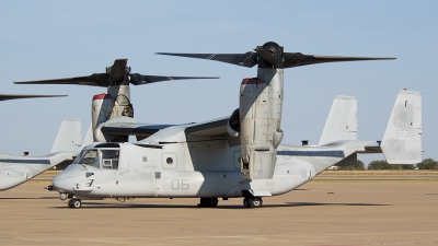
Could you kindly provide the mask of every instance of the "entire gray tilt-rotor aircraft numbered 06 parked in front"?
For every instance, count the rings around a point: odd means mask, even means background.
[[[353,164],[357,153],[383,152],[393,164],[420,162],[420,93],[410,91],[399,93],[381,142],[356,140],[356,97],[337,96],[319,145],[280,144],[285,68],[392,58],[291,54],[275,43],[242,55],[164,55],[244,67],[258,65],[257,78],[242,81],[240,107],[230,117],[200,124],[134,122],[114,114],[120,108],[113,95],[95,96],[92,115],[96,142],[85,147],[53,180],[53,189],[61,200],[70,199],[70,208],[80,208],[85,199],[153,197],[200,198],[199,207],[216,207],[218,198],[243,197],[244,207],[256,208],[262,207],[263,197],[291,191],[332,165]],[[100,117],[111,110],[112,116]],[[138,141],[117,142],[129,134]]]

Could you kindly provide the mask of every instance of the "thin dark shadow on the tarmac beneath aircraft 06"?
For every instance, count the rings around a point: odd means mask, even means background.
[[[356,206],[356,207],[370,207],[370,206],[392,206],[392,204],[378,204],[378,203],[319,203],[319,202],[285,202],[280,204],[263,204],[262,208],[292,208],[292,207],[322,207],[322,206]],[[70,209],[66,204],[53,207],[55,209]],[[139,203],[104,203],[104,202],[82,202],[81,209],[208,209],[199,208],[196,204],[139,204]],[[247,209],[243,204],[218,206],[209,209]]]

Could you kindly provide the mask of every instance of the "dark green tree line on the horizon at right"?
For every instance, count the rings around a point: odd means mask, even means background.
[[[357,163],[349,166],[339,166],[337,169],[343,171],[365,171],[365,169],[438,169],[438,162],[434,159],[425,159],[416,165],[394,165],[389,164],[384,160],[372,161],[366,168],[362,161],[357,160]]]

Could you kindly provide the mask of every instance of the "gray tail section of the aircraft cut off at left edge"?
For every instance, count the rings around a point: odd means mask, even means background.
[[[72,161],[82,148],[81,121],[66,119],[59,128],[50,154],[28,156],[0,154],[0,190],[11,189],[46,169]]]

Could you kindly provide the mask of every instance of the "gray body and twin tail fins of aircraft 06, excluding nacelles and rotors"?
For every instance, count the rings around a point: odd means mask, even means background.
[[[357,141],[355,97],[336,97],[321,144],[280,144],[273,178],[247,179],[241,172],[241,149],[227,131],[229,118],[163,128],[135,143],[85,147],[53,180],[70,208],[82,200],[116,198],[200,198],[216,207],[218,198],[244,197],[247,208],[262,197],[289,192],[332,165],[357,162],[357,153],[382,153],[388,162],[420,162],[420,93],[402,91],[382,142]]]

